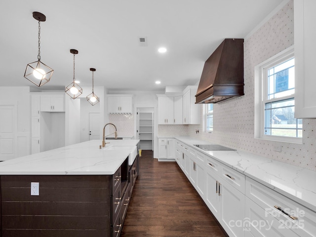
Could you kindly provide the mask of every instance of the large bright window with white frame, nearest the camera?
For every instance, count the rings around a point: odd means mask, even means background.
[[[256,86],[256,138],[301,142],[302,119],[294,118],[294,79],[292,47],[256,67],[256,83],[260,85]]]

